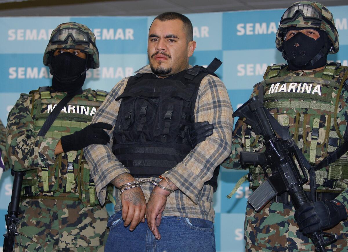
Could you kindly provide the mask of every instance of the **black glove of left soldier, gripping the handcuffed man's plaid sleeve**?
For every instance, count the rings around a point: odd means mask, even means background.
[[[104,129],[111,130],[112,126],[108,123],[94,123],[71,135],[62,136],[61,143],[63,151],[81,150],[93,143],[109,143],[110,137]]]

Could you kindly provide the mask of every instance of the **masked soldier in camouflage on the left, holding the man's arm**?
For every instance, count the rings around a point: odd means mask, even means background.
[[[83,155],[92,143],[106,144],[106,124],[90,124],[106,92],[82,90],[89,68],[99,67],[95,36],[70,22],[52,32],[44,64],[52,86],[22,93],[10,111],[10,167],[25,171],[15,251],[104,251],[108,213],[97,199]],[[63,97],[72,100],[45,136],[38,132]],[[111,126],[110,126],[111,127]],[[111,128],[109,128],[111,129]]]

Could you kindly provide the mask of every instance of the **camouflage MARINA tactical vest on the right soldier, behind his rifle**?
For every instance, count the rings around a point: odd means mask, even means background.
[[[254,91],[263,88],[264,107],[288,129],[312,166],[343,142],[346,111],[340,109],[339,98],[345,88],[347,70],[339,63],[330,63],[314,74],[304,72],[305,76],[295,76],[288,72],[286,64],[273,65],[268,67],[264,80],[254,86]],[[242,135],[244,150],[263,151],[262,136],[256,136],[249,125],[243,124]],[[264,180],[262,168],[251,166],[250,173],[251,187],[256,188]],[[340,192],[347,188],[347,155],[316,171],[316,181],[320,185],[317,192]],[[303,189],[310,191],[309,182]]]

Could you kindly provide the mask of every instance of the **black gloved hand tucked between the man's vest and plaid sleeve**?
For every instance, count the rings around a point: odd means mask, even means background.
[[[214,126],[209,124],[208,121],[201,123],[193,123],[190,125],[188,130],[188,137],[191,147],[194,148],[197,144],[204,141],[206,137],[213,134]]]

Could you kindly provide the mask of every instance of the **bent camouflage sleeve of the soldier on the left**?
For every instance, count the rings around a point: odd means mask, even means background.
[[[54,164],[54,149],[59,139],[36,136],[31,107],[29,95],[21,94],[7,118],[7,157],[15,171]]]

